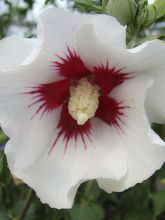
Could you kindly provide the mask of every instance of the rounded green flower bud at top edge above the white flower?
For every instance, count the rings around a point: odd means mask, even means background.
[[[122,25],[134,20],[138,9],[136,0],[109,0],[107,13],[114,16]]]

